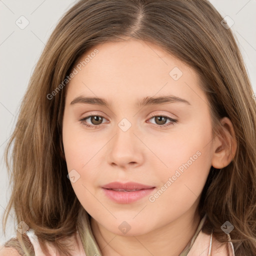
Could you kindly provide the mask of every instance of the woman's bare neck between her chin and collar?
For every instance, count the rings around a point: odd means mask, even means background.
[[[137,236],[112,233],[94,218],[91,218],[91,229],[103,256],[178,256],[199,222],[198,212],[189,209],[174,221]]]

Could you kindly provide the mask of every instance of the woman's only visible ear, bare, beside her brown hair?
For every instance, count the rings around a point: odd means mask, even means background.
[[[217,169],[227,166],[232,161],[237,148],[237,141],[230,119],[223,117],[220,123],[219,134],[213,139],[211,159],[211,165]]]

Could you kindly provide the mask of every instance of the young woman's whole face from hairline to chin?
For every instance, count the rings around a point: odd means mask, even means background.
[[[74,68],[62,136],[84,209],[113,233],[130,228],[127,235],[193,214],[212,157],[211,117],[195,71],[138,40],[97,45]],[[110,182],[121,185],[107,189]]]

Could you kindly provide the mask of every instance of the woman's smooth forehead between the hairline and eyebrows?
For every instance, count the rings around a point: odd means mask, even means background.
[[[80,56],[74,68],[77,74],[68,84],[72,97],[204,97],[198,86],[199,77],[192,68],[161,47],[141,40],[98,44]]]

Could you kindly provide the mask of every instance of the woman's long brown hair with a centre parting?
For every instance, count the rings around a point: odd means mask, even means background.
[[[228,220],[234,226],[230,237],[235,255],[256,255],[256,104],[234,36],[221,20],[207,0],[80,0],[71,7],[37,62],[6,147],[8,162],[13,143],[7,212],[14,207],[17,223],[24,221],[41,243],[52,242],[62,255],[70,255],[62,238],[78,229],[86,251],[101,255],[92,233],[85,237],[87,213],[61,156],[68,86],[63,81],[84,52],[107,41],[133,38],[159,45],[195,70],[214,132],[221,117],[231,120],[236,153],[226,167],[211,167],[198,209],[201,217],[207,214],[204,232],[213,227],[217,240],[224,242],[220,226]],[[4,229],[7,217],[5,213]],[[24,235],[17,232],[17,240],[26,255],[34,254]]]

